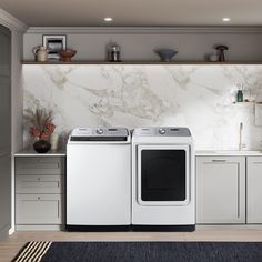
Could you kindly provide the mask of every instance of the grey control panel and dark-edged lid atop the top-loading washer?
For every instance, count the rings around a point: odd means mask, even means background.
[[[70,135],[70,141],[128,141],[129,131],[125,128],[77,128]]]

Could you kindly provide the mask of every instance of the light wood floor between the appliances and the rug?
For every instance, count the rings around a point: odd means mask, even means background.
[[[261,241],[262,230],[196,230],[194,232],[79,233],[17,231],[0,241],[0,262],[10,262],[28,241]]]

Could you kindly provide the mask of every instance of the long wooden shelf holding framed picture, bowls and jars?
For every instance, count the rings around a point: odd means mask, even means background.
[[[208,61],[171,61],[171,62],[161,62],[161,61],[121,61],[121,62],[108,62],[108,61],[72,61],[72,62],[62,62],[62,61],[47,61],[47,62],[37,62],[37,61],[22,61],[22,64],[262,64],[262,61],[232,61],[232,62],[208,62]]]

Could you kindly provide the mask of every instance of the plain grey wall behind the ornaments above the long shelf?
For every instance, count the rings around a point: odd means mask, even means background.
[[[157,48],[179,51],[175,60],[203,60],[218,43],[228,44],[229,60],[261,61],[260,28],[30,28],[23,37],[23,59],[33,60],[32,49],[42,44],[42,34],[67,34],[75,60],[104,60],[110,41],[122,47],[122,60],[158,60]]]

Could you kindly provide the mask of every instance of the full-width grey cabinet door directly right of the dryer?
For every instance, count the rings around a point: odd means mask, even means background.
[[[244,157],[196,157],[196,223],[245,223]]]

